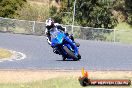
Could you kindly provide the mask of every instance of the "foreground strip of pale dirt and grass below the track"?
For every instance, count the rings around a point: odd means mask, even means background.
[[[3,75],[2,75],[3,74]],[[131,71],[89,72],[91,79],[130,79]],[[0,71],[0,88],[83,88],[78,81],[80,71]],[[8,76],[8,77],[7,77]],[[21,77],[19,77],[21,76]],[[48,79],[45,77],[49,77]],[[56,76],[56,77],[55,77]],[[17,79],[16,79],[16,78]],[[41,77],[41,78],[39,78]],[[32,79],[27,82],[25,80]],[[38,80],[39,78],[39,80]],[[2,82],[3,80],[8,80]],[[12,79],[12,80],[9,80]],[[13,79],[16,79],[16,82]],[[23,81],[19,81],[22,80]],[[18,81],[19,82],[18,82]],[[86,88],[132,88],[132,86],[88,86]]]

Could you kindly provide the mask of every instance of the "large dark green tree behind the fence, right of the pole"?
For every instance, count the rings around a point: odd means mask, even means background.
[[[110,3],[99,0],[77,0],[76,19],[82,26],[113,28],[116,25]]]

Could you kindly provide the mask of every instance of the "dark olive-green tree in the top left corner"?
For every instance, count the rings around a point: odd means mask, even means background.
[[[13,18],[15,11],[25,2],[26,0],[0,0],[0,16]]]

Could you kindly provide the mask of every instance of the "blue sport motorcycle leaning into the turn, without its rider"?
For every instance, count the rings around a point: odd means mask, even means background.
[[[62,55],[63,60],[81,59],[79,54],[79,47],[61,30],[55,28],[50,31],[51,34],[51,46],[56,48],[59,55]]]

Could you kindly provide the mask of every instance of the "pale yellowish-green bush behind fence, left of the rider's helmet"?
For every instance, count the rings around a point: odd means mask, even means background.
[[[16,11],[15,18],[22,20],[45,21],[49,16],[49,9],[46,5],[25,4]]]

